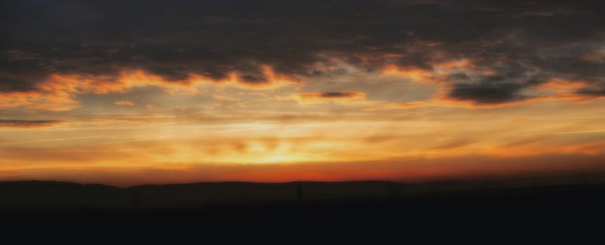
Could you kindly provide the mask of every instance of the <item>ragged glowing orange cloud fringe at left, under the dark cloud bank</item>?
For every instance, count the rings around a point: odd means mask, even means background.
[[[171,94],[197,94],[199,84],[234,85],[242,89],[257,90],[299,83],[297,78],[275,73],[270,66],[262,66],[262,75],[264,80],[251,82],[237,71],[222,80],[200,74],[190,74],[190,78],[185,80],[166,80],[141,70],[122,71],[117,76],[53,74],[34,91],[0,92],[0,109],[29,107],[44,111],[67,111],[80,106],[77,94],[124,93],[133,87],[154,86],[161,87]]]

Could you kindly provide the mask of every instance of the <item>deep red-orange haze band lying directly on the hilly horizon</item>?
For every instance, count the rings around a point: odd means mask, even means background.
[[[427,182],[444,180],[525,179],[538,176],[564,176],[576,183],[577,176],[602,176],[605,155],[543,154],[510,158],[465,155],[451,158],[403,158],[395,160],[353,161],[347,164],[304,162],[297,165],[218,165],[164,164],[148,167],[128,165],[109,167],[70,167],[41,165],[0,169],[5,180],[48,179],[80,183],[106,183],[133,186],[149,183],[192,183],[198,181],[354,181],[366,179]],[[574,162],[573,167],[569,162]],[[489,164],[486,164],[489,163]],[[547,178],[544,178],[548,180]]]

